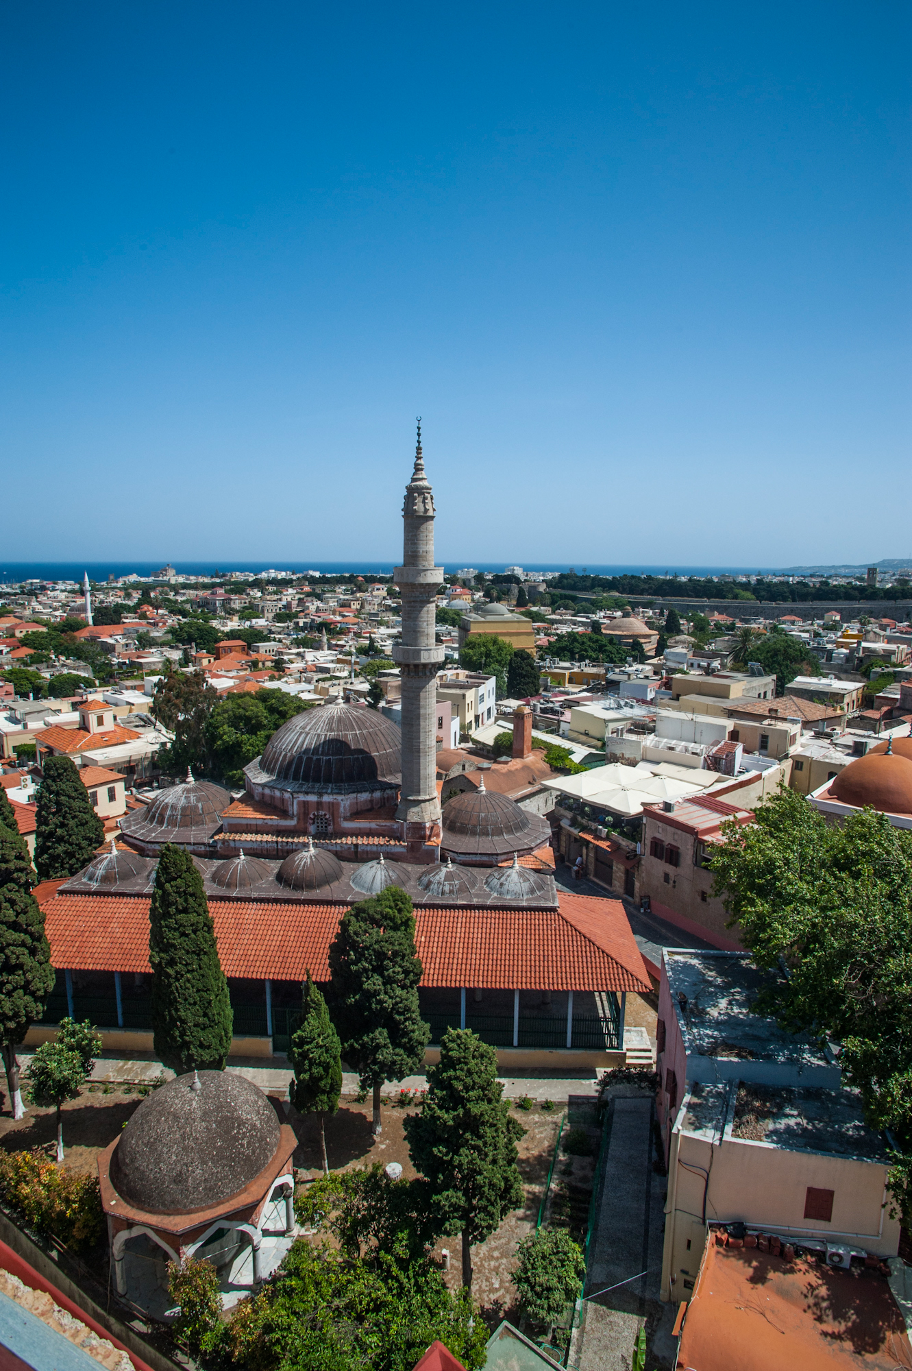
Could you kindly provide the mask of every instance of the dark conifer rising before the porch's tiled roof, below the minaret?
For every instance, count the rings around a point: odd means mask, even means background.
[[[389,886],[342,914],[329,950],[333,1019],[345,1061],[374,1093],[374,1134],[381,1132],[381,1086],[418,1071],[430,1028],[422,1021],[415,914],[404,890]]]

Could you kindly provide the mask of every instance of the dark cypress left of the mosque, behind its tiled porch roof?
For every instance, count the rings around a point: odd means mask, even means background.
[[[34,865],[38,880],[75,876],[104,842],[104,824],[68,757],[48,757],[37,795]]]

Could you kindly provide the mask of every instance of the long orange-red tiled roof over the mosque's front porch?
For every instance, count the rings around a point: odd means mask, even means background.
[[[415,910],[422,986],[482,990],[648,991],[649,975],[613,899],[560,894],[560,910]],[[148,972],[147,895],[53,894],[42,905],[55,967]],[[345,905],[212,899],[226,976],[329,980],[329,946]]]

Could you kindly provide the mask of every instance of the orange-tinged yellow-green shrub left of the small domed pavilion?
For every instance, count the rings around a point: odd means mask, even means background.
[[[104,1213],[97,1176],[75,1176],[42,1152],[0,1152],[0,1196],[30,1228],[71,1252],[94,1248]]]

